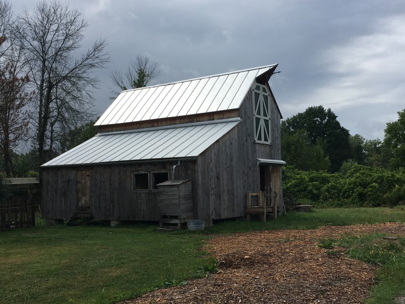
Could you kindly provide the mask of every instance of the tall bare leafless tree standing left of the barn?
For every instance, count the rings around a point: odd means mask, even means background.
[[[57,128],[74,128],[75,121],[88,118],[93,109],[91,88],[98,84],[92,72],[109,62],[105,39],[74,57],[88,26],[80,16],[67,4],[44,0],[32,12],[24,10],[18,16],[16,32],[37,92],[33,123],[41,163],[54,156],[51,148]]]

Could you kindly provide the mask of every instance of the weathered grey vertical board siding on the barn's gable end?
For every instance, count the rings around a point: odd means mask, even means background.
[[[240,107],[242,121],[197,160],[198,197],[194,214],[201,219],[244,216],[246,193],[259,192],[257,159],[280,159],[280,113],[271,99],[271,144],[254,142],[252,93]],[[277,183],[279,183],[278,181]]]

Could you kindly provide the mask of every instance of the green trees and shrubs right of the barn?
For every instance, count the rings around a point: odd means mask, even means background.
[[[287,198],[323,207],[405,203],[405,109],[383,140],[366,140],[331,109],[309,107],[281,123],[281,148]]]

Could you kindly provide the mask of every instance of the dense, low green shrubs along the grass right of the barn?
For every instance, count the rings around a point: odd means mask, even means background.
[[[338,173],[283,170],[286,198],[309,200],[317,207],[395,206],[405,201],[405,169],[395,172],[382,168],[343,164]]]

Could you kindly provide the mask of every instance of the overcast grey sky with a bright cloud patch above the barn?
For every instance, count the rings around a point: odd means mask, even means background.
[[[15,14],[34,0],[12,0]],[[331,108],[352,135],[384,137],[405,108],[403,0],[71,0],[89,26],[83,46],[106,37],[111,62],[96,73],[102,113],[111,70],[137,54],[158,61],[155,84],[278,63],[270,86],[284,118]]]

